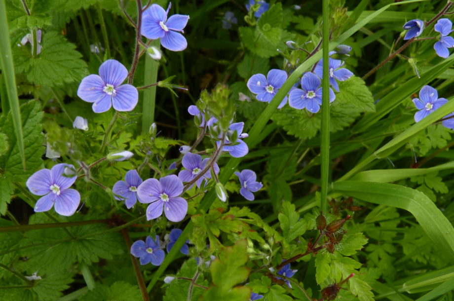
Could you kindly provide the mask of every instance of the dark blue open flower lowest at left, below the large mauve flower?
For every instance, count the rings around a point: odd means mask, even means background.
[[[164,251],[159,248],[159,236],[155,239],[147,236],[145,241],[135,241],[130,250],[131,254],[140,258],[140,264],[151,263],[152,265],[161,265],[164,261]]]

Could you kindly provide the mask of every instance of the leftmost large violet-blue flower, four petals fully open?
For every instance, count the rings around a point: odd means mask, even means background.
[[[65,168],[73,165],[60,163],[49,169],[41,169],[27,180],[27,188],[36,195],[43,195],[35,205],[35,212],[49,211],[54,206],[58,214],[73,215],[80,203],[80,194],[70,188],[77,176],[65,176]]]

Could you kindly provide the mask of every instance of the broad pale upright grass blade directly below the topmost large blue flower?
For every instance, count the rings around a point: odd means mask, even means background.
[[[153,40],[151,46],[159,47],[159,40]],[[150,55],[145,55],[144,86],[151,85],[157,80],[159,63]],[[148,133],[154,121],[156,104],[156,86],[151,86],[143,92],[142,97],[142,134]]]

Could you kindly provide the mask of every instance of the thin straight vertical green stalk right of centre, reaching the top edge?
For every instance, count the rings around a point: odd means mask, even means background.
[[[330,6],[329,0],[323,0],[323,79],[322,79],[322,119],[321,119],[321,181],[320,210],[327,210],[328,177],[330,172],[330,82],[329,82],[329,42],[330,42]]]

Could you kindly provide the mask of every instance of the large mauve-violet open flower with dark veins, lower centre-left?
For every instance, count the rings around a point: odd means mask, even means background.
[[[139,202],[149,204],[147,220],[153,220],[164,214],[171,222],[182,221],[188,212],[188,202],[180,197],[183,183],[175,175],[145,180],[137,189]]]

